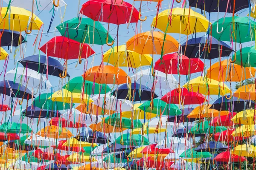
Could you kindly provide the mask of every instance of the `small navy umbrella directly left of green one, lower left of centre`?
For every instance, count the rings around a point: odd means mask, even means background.
[[[111,142],[107,136],[105,136],[102,132],[88,130],[85,132],[81,132],[79,135],[75,137],[79,141],[89,142],[89,143],[97,143],[97,144],[106,144]]]

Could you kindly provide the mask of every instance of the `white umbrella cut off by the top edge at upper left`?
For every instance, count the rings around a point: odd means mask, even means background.
[[[6,2],[7,4],[9,3],[10,0],[3,0],[4,2]],[[33,0],[12,0],[11,2],[11,6],[16,6],[19,8],[25,8],[28,9],[29,11],[32,11],[32,1]],[[34,11],[39,10],[51,10],[53,7],[53,0],[35,0],[34,3]],[[55,4],[57,5],[57,1],[55,0]],[[67,5],[64,0],[60,0],[59,6],[58,7],[63,7]],[[58,8],[57,7],[57,8]],[[56,7],[55,7],[56,8]]]

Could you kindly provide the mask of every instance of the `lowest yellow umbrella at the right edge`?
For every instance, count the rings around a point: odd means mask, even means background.
[[[255,157],[256,156],[256,147],[249,144],[241,144],[236,146],[232,154],[236,154],[238,156],[244,156],[244,157]]]

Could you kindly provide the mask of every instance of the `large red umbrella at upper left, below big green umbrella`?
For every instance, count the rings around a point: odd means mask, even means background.
[[[89,45],[62,36],[52,38],[41,46],[40,50],[47,56],[63,59],[87,58],[95,54]]]

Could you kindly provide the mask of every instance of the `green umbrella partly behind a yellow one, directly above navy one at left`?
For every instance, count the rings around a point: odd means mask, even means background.
[[[52,111],[70,109],[70,103],[52,101],[51,99],[48,99],[50,96],[52,96],[51,93],[40,94],[38,97],[35,98],[33,105],[41,109],[49,109]],[[73,107],[74,104],[72,105],[72,108]]]

